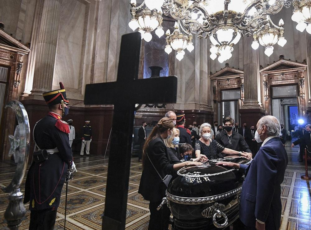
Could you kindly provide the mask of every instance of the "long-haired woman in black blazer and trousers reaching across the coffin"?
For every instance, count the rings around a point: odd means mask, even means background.
[[[166,186],[160,176],[164,178],[167,174],[173,174],[185,166],[202,165],[200,162],[185,161],[172,164],[163,139],[170,138],[174,128],[173,121],[163,117],[151,131],[143,148],[143,170],[138,193],[142,194],[145,200],[149,200],[150,209],[150,230],[168,229],[170,210],[167,205],[157,211],[162,198],[165,197]],[[154,167],[152,166],[152,164]],[[160,176],[158,175],[158,173]]]

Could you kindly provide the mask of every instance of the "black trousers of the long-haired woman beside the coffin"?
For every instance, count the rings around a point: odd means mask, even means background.
[[[148,230],[167,230],[169,228],[169,215],[171,211],[166,204],[158,211],[156,208],[160,205],[159,202],[150,202],[150,220]]]

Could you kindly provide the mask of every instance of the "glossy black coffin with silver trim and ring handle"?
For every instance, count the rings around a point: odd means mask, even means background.
[[[171,180],[166,202],[174,216],[173,229],[221,229],[238,218],[244,176],[236,169],[216,165],[222,160],[182,168]],[[225,161],[249,163],[241,157]]]

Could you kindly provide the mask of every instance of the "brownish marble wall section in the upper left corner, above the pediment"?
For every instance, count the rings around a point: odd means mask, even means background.
[[[21,0],[0,0],[0,6],[0,21],[4,24],[4,30],[16,37]]]

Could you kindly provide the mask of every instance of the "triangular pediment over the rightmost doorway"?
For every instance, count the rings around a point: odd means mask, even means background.
[[[306,63],[281,58],[280,60],[273,62],[267,67],[261,69],[260,73],[264,75],[278,72],[304,71],[306,68]]]

